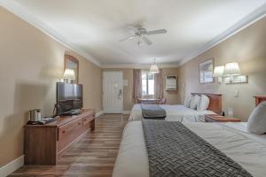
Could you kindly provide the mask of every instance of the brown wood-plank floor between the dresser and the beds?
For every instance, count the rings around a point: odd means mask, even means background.
[[[128,116],[105,114],[96,119],[95,132],[88,133],[66,151],[59,165],[24,165],[10,176],[112,176],[122,130]]]

